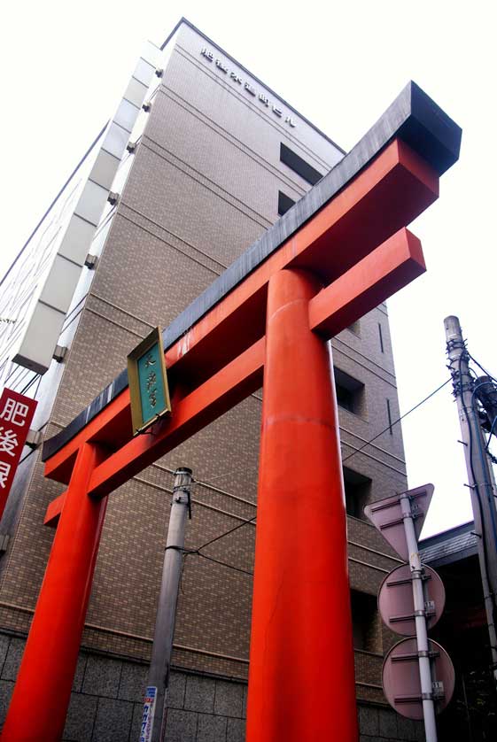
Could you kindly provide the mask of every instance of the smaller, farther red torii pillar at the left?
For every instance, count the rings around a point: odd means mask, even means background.
[[[2,742],[62,737],[107,504],[89,498],[88,484],[103,458],[95,444],[83,444],[78,453]]]

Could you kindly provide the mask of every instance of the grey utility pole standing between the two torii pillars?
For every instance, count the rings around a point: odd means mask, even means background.
[[[166,734],[167,688],[187,514],[191,518],[191,479],[191,469],[176,469],[140,742],[163,742]]]

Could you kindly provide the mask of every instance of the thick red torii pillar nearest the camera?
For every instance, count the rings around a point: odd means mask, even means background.
[[[269,281],[247,742],[358,739],[338,414],[312,275]]]

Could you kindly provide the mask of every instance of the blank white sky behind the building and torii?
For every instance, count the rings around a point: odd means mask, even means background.
[[[0,274],[113,113],[142,43],[164,41],[183,15],[346,150],[411,79],[462,127],[459,163],[442,177],[439,201],[410,227],[422,240],[428,273],[389,302],[401,412],[447,378],[448,314],[460,317],[470,352],[495,374],[495,6],[340,5],[6,5]],[[449,388],[410,415],[403,432],[409,485],[435,484],[423,535],[470,520]]]

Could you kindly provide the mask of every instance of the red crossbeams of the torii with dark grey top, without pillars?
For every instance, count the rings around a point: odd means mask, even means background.
[[[44,444],[46,475],[68,483],[82,443],[105,444],[109,458],[90,491],[108,494],[128,478],[116,476],[125,450],[125,469],[136,474],[260,386],[268,281],[277,271],[299,267],[319,277],[309,321],[324,337],[423,272],[420,245],[404,228],[438,197],[439,174],[457,158],[459,138],[454,122],[410,83],[353,151],[165,330],[171,419],[153,437],[130,441],[121,375]],[[58,511],[52,504],[50,517]]]

